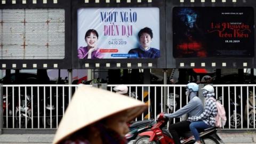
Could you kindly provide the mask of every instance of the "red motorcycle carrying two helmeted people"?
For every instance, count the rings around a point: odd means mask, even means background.
[[[164,113],[157,115],[157,123],[149,130],[143,133],[140,133],[134,142],[134,144],[150,143],[150,144],[167,144],[174,143],[169,130],[164,129],[164,126],[167,124],[168,119],[164,118]],[[222,142],[220,137],[217,134],[217,127],[211,127],[200,131],[200,138],[202,143],[218,143]],[[180,139],[181,143],[194,143],[195,138],[191,132],[186,132],[182,135]]]

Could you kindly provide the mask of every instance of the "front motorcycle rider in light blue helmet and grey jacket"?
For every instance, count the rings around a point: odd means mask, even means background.
[[[164,114],[165,118],[181,117],[184,114],[188,114],[188,117],[199,116],[203,113],[204,107],[201,99],[197,97],[199,86],[196,83],[188,83],[186,86],[186,95],[189,97],[189,102],[184,107],[175,111],[172,114]],[[173,137],[175,144],[180,144],[180,134],[189,131],[190,121],[181,121],[175,124],[169,125],[169,131]]]

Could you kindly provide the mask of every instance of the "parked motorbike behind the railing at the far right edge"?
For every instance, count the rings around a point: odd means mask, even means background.
[[[254,99],[254,106],[253,106],[253,99]],[[247,113],[247,108],[248,108],[249,113]],[[254,110],[256,111],[256,95],[254,97],[253,93],[250,92],[248,103],[246,100],[246,106],[245,106],[245,110],[244,110],[245,122],[249,122],[250,127],[254,127],[254,124],[256,124],[256,115],[254,114]],[[255,119],[254,119],[254,115],[255,115]],[[247,120],[247,116],[249,117],[248,120]]]

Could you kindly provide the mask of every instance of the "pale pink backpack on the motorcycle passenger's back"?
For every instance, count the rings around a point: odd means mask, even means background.
[[[219,100],[214,99],[213,97],[211,97],[210,99],[214,100],[216,102],[216,106],[217,106],[217,116],[215,117],[215,126],[216,127],[222,127],[225,126],[226,122],[227,122],[227,117],[226,117],[226,111],[225,108],[223,107],[223,105],[221,105]]]

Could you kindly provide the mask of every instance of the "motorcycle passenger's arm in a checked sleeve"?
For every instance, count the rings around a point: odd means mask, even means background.
[[[188,121],[199,121],[210,117],[212,110],[216,107],[215,102],[212,99],[208,99],[205,104],[204,112],[199,116],[192,116],[188,118]]]

